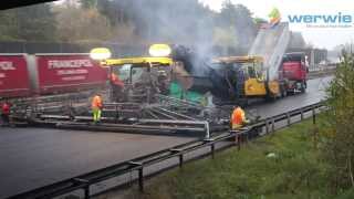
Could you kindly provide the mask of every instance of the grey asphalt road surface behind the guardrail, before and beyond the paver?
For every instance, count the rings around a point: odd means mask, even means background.
[[[311,80],[304,94],[253,105],[249,109],[267,117],[316,103],[324,98],[324,88],[330,81],[331,77]],[[191,139],[102,132],[0,128],[0,198]]]

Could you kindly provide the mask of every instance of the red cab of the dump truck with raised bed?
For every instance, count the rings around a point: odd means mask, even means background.
[[[304,93],[306,90],[308,66],[303,52],[287,53],[280,67],[280,76],[287,93]]]

